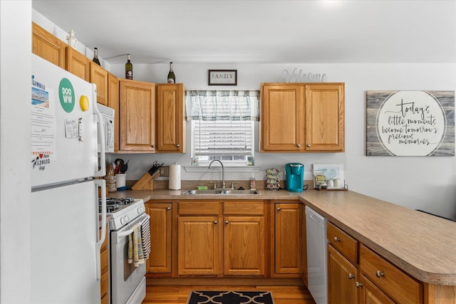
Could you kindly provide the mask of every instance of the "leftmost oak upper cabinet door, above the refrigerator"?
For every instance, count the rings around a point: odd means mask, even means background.
[[[66,68],[66,43],[32,22],[31,51],[51,63]]]

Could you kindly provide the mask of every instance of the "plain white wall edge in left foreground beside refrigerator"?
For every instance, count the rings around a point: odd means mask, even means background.
[[[30,302],[30,21],[0,1],[0,303]]]

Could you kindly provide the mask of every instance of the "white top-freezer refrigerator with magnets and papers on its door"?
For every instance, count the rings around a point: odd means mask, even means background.
[[[105,175],[96,100],[95,85],[32,54],[31,303],[100,303],[98,189],[103,205],[106,194],[94,179]]]

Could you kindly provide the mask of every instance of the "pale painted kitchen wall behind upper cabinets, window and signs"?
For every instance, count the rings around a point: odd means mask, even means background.
[[[66,31],[58,31],[46,18],[33,11],[33,21],[48,23],[62,39]],[[45,26],[46,28],[46,26]],[[453,37],[454,39],[454,37]],[[91,54],[87,55],[89,58]],[[125,58],[126,61],[126,58]],[[102,61],[103,63],[103,61]],[[165,83],[168,63],[135,64],[132,56],[133,78],[153,83]],[[120,78],[125,77],[124,65],[105,67]],[[208,86],[208,69],[237,69],[238,85]],[[281,169],[284,164],[302,162],[305,179],[311,179],[311,164],[343,163],[348,188],[385,199],[411,209],[456,218],[455,157],[366,157],[366,91],[367,90],[455,90],[456,64],[239,64],[209,65],[174,63],[178,83],[187,89],[259,90],[261,82],[279,82],[286,70],[304,73],[325,73],[328,82],[346,83],[346,152],[344,153],[259,153],[255,155],[257,172],[227,172],[226,179],[248,179],[254,173],[264,178],[268,167]],[[187,154],[113,154],[110,160],[130,160],[127,179],[142,177],[152,162],[165,165],[190,164],[190,125],[187,125]],[[258,124],[257,124],[258,130]],[[258,134],[258,133],[257,133]],[[258,141],[257,141],[258,142]],[[257,147],[258,151],[258,147]],[[217,171],[189,173],[182,170],[182,179],[220,179]]]

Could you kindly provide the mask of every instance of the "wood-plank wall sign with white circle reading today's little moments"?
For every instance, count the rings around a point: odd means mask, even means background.
[[[455,156],[454,91],[367,91],[367,156]]]

